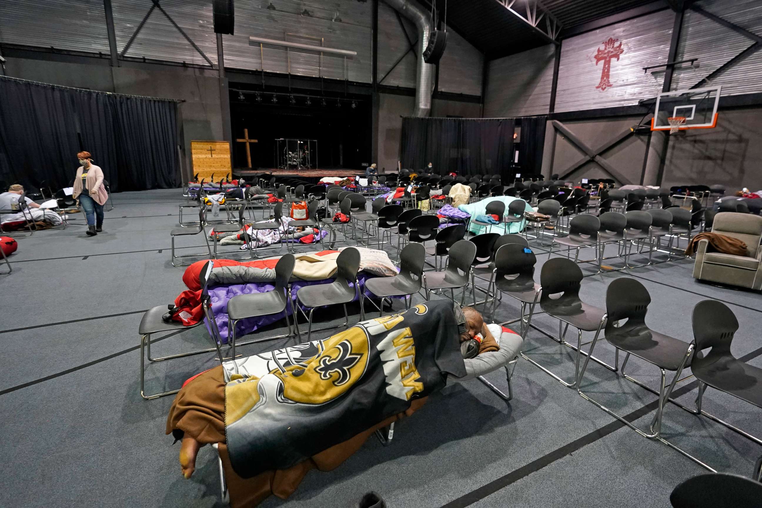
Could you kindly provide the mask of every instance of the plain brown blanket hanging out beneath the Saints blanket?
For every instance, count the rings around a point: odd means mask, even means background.
[[[202,444],[219,443],[219,458],[223,461],[232,508],[251,508],[274,494],[286,499],[299,487],[310,469],[331,471],[357,452],[376,429],[386,427],[399,418],[410,416],[427,398],[412,401],[404,413],[387,418],[378,425],[357,434],[336,446],[312,455],[309,460],[277,471],[265,471],[253,478],[241,478],[233,471],[225,444],[225,376],[222,366],[216,366],[188,381],[174,399],[167,430],[176,438],[189,433]],[[180,432],[178,432],[180,431]]]

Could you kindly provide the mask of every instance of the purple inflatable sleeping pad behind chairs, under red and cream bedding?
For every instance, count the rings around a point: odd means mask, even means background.
[[[357,273],[357,279],[360,281],[360,288],[363,289],[365,296],[373,296],[372,293],[365,291],[365,280],[375,277],[364,272]],[[296,280],[291,283],[291,296],[293,301],[296,302],[296,292],[304,286],[315,286],[317,284],[330,284],[335,279],[326,280]],[[255,292],[268,292],[275,289],[274,284],[271,283],[247,283],[247,284],[232,284],[230,286],[216,286],[209,289],[209,295],[212,298],[212,312],[214,315],[214,321],[219,328],[219,336],[222,338],[223,343],[227,343],[229,335],[229,318],[228,318],[228,301],[233,296],[246,295]],[[304,308],[304,307],[303,307]],[[238,322],[238,327],[235,330],[235,337],[243,337],[245,334],[251,334],[252,331],[258,330],[261,327],[267,326],[267,324],[274,323],[279,319],[283,319],[286,315],[291,315],[291,306],[286,306],[286,311],[280,314],[260,316],[258,318],[242,319]],[[304,321],[304,316],[299,317]],[[204,320],[206,321],[206,319]],[[210,330],[209,323],[207,330]],[[305,328],[306,330],[306,328]],[[211,331],[210,331],[211,334]]]

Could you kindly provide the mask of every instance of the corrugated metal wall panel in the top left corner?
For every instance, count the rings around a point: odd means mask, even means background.
[[[108,53],[102,0],[2,0],[0,42]]]

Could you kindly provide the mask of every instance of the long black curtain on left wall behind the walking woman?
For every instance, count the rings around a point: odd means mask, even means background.
[[[0,76],[0,181],[68,187],[77,152],[113,192],[179,187],[175,101],[62,88]]]

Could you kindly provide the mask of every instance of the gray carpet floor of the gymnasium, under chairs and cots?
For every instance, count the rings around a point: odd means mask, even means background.
[[[171,303],[185,289],[184,269],[172,267],[169,255],[169,231],[178,227],[178,205],[185,200],[180,190],[119,193],[112,200],[103,233],[88,238],[82,216],[75,214],[66,230],[18,238],[14,271],[0,276],[0,506],[224,506],[213,449],[201,449],[191,480],[181,478],[178,445],[165,436],[171,397],[143,401],[139,396],[142,313]],[[205,249],[200,236],[183,238],[178,246],[184,246],[179,253]],[[314,248],[299,246],[309,250]],[[536,252],[539,280],[548,255]],[[611,280],[635,277],[652,296],[648,324],[686,341],[692,339],[697,302],[727,302],[741,325],[732,352],[762,366],[760,295],[698,283],[692,267],[692,261],[679,260],[589,276],[581,296],[604,306]],[[402,303],[395,302],[395,308]],[[495,321],[516,318],[518,311],[504,298]],[[354,308],[351,322],[357,314]],[[322,317],[329,323],[342,319],[338,312]],[[544,315],[533,322],[558,330],[558,321]],[[274,325],[261,334],[280,330]],[[239,352],[285,343],[253,344]],[[197,327],[159,341],[154,350],[163,355],[209,345],[206,331]],[[524,351],[566,379],[574,373],[572,351],[537,331],[529,332]],[[599,343],[596,356],[613,362],[613,348]],[[214,365],[211,354],[153,364],[146,388],[177,388]],[[658,369],[648,363],[630,359],[628,369],[658,386]],[[488,378],[505,388],[500,372]],[[261,506],[348,508],[368,490],[392,508],[669,506],[672,488],[704,471],[663,443],[629,430],[526,360],[517,363],[513,384],[510,403],[478,381],[448,385],[398,424],[390,446],[370,439],[335,471],[310,472],[290,499],[271,497]],[[583,391],[648,427],[655,409],[652,393],[595,363]],[[693,379],[677,385],[676,395],[692,404]],[[707,411],[762,436],[757,408],[711,389],[704,401]],[[664,436],[719,471],[748,476],[762,455],[762,447],[674,404],[665,410]]]

